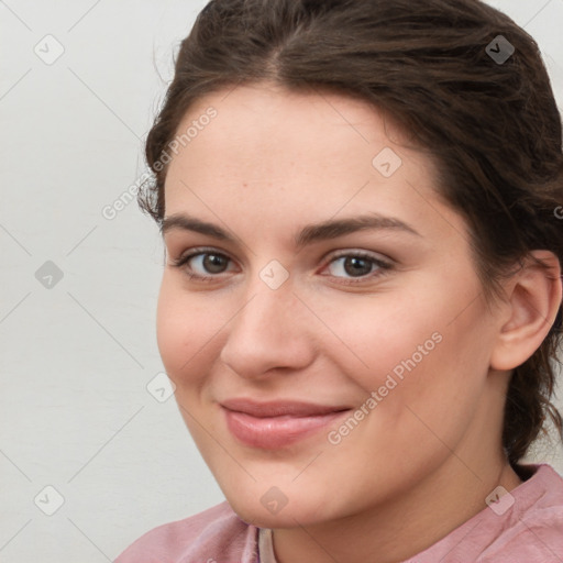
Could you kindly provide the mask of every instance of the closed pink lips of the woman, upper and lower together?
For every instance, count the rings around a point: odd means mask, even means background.
[[[242,398],[225,400],[221,407],[230,432],[243,444],[262,449],[279,449],[303,440],[351,410],[347,406]]]

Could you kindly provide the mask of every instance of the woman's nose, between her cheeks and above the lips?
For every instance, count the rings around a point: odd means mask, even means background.
[[[289,285],[258,289],[229,324],[220,358],[246,378],[302,369],[314,358],[311,324]]]

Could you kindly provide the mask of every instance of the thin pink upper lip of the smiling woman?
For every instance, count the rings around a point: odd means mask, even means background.
[[[298,400],[275,400],[265,402],[245,398],[223,400],[221,405],[225,409],[244,412],[245,415],[257,418],[283,416],[313,417],[350,409],[350,407],[346,406],[316,405]]]

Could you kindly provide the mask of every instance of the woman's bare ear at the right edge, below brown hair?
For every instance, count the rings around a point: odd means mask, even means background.
[[[506,314],[490,357],[490,367],[499,371],[514,369],[531,357],[555,321],[562,298],[558,257],[550,251],[531,252],[505,288]]]

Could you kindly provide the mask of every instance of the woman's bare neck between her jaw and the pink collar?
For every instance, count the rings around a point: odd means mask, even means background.
[[[404,561],[487,508],[485,498],[497,486],[511,490],[520,483],[500,455],[474,471],[452,454],[393,501],[338,521],[274,530],[276,559],[278,563]]]

